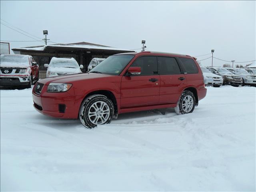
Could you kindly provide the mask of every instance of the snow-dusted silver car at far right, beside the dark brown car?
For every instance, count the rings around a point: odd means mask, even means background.
[[[256,75],[251,75],[245,69],[243,69],[243,68],[226,68],[226,69],[229,70],[230,72],[232,72],[233,74],[242,77],[242,80],[243,80],[242,86],[244,86],[244,85],[255,86],[256,85]]]

